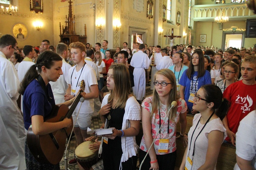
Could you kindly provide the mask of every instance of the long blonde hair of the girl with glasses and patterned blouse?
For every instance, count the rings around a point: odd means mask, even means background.
[[[156,75],[165,76],[167,79],[170,80],[171,85],[173,87],[170,91],[170,96],[169,96],[169,99],[168,99],[168,104],[167,104],[167,111],[168,111],[169,108],[171,107],[172,101],[177,101],[176,78],[175,78],[174,73],[170,69],[167,69],[167,68],[160,69],[159,71],[157,71],[155,76],[154,76],[154,81],[156,80]],[[159,85],[159,86],[161,86],[161,85]],[[153,117],[153,113],[157,112],[157,109],[160,107],[159,103],[160,103],[160,98],[159,98],[159,95],[158,95],[158,93],[156,91],[156,88],[154,86],[151,117]],[[177,106],[172,108],[171,113],[169,114],[169,120],[172,120],[174,122],[176,112],[177,112]]]

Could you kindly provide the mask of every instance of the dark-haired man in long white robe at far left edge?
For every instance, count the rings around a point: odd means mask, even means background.
[[[20,82],[14,65],[6,59],[13,55],[16,46],[12,35],[0,38],[0,169],[23,170],[26,134],[16,102]]]

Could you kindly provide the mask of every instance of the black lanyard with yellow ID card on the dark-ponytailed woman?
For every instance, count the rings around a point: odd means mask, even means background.
[[[208,118],[208,120],[205,122],[205,124],[203,125],[203,128],[206,126],[206,124],[209,122],[209,120],[211,119],[212,115],[214,114],[214,112],[212,112],[211,116]],[[201,119],[201,117],[200,117]],[[200,119],[198,120],[197,122],[197,125],[199,124],[200,122]],[[189,145],[189,150],[188,150],[188,155],[187,155],[187,159],[186,159],[186,164],[185,164],[185,169],[186,170],[190,170],[192,168],[192,165],[193,165],[193,158],[194,158],[194,154],[195,154],[195,144],[196,144],[196,140],[198,138],[198,136],[200,135],[200,133],[202,132],[203,128],[200,130],[200,132],[198,133],[196,139],[195,139],[195,142],[194,142],[194,149],[193,149],[193,154],[192,154],[192,159],[190,159],[189,157],[189,153],[190,153],[190,149],[191,149],[191,142],[192,142],[192,138],[193,138],[193,135],[195,133],[195,130],[197,129],[197,125],[192,133],[192,136],[191,136],[191,139],[190,139],[190,145]]]

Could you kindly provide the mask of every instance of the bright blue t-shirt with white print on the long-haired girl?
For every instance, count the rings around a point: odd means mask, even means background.
[[[197,78],[197,74],[198,74],[198,72],[194,72],[193,76],[192,76],[193,79],[189,79],[187,77],[187,69],[186,69],[183,72],[181,79],[179,81],[179,84],[181,84],[182,86],[185,87],[184,97],[185,97],[185,101],[187,103],[187,107],[190,111],[193,107],[193,103],[188,102],[190,93],[195,94],[200,89],[201,86],[203,86],[205,84],[212,84],[211,74],[209,71],[205,70],[203,77]]]

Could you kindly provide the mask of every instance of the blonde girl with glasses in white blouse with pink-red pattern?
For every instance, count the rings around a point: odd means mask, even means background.
[[[154,80],[153,95],[146,97],[141,104],[143,137],[140,144],[140,164],[149,152],[142,164],[143,170],[172,170],[176,161],[176,123],[178,120],[181,125],[180,134],[184,147],[187,145],[185,135],[187,104],[182,98],[177,97],[176,78],[171,70],[157,71]],[[173,101],[177,102],[177,106],[171,108]],[[154,145],[149,150],[155,137]],[[165,148],[159,150],[160,144],[164,142],[166,142]]]

